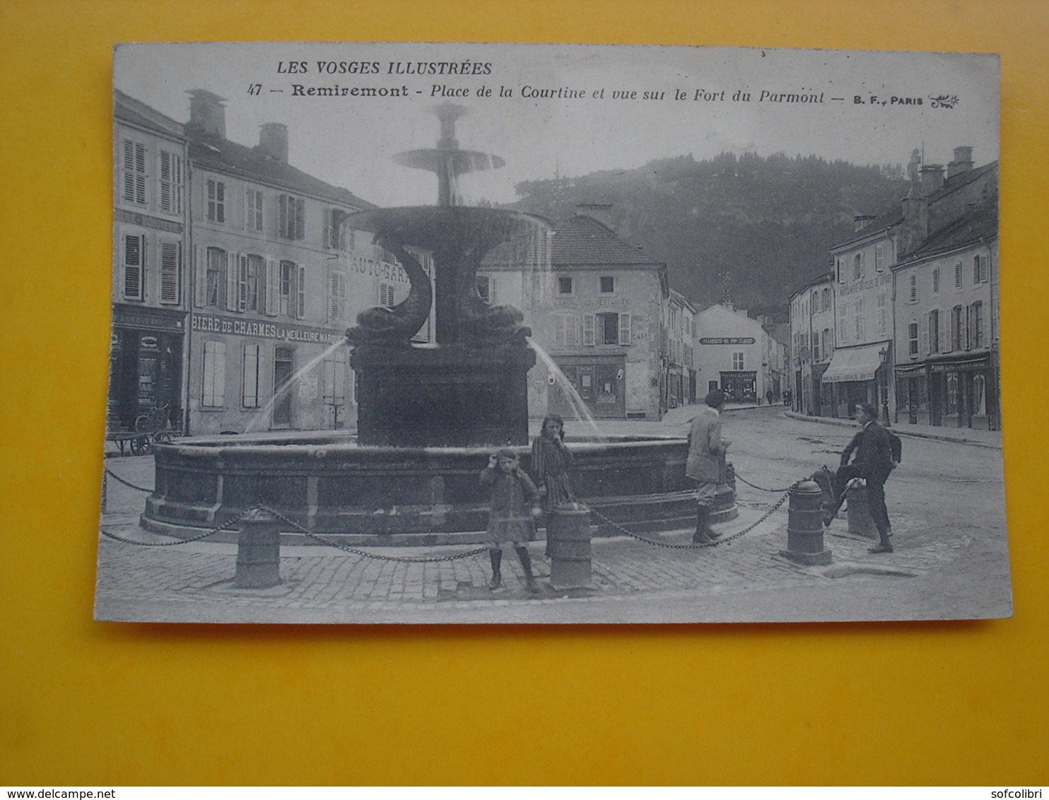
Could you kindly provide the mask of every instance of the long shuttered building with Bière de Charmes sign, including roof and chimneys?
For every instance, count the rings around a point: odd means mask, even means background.
[[[190,95],[188,432],[352,428],[346,327],[401,302],[408,278],[343,224],[370,203],[287,163],[284,125],[245,147],[226,138],[221,98]]]

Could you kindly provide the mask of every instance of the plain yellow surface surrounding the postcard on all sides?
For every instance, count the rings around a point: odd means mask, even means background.
[[[1042,2],[3,0],[0,783],[1049,782]],[[571,628],[91,620],[110,47],[722,44],[1002,55],[1002,381],[1015,613]]]

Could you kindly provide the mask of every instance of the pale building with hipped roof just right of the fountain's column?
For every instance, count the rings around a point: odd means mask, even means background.
[[[552,223],[545,252],[531,261],[514,255],[519,246],[489,254],[477,274],[478,294],[521,309],[534,341],[564,375],[540,358],[529,372],[530,416],[574,418],[574,391],[595,417],[660,419],[666,265],[616,236],[611,207],[579,210]]]

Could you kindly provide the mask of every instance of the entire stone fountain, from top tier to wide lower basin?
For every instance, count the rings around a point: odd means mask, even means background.
[[[476,272],[493,247],[545,220],[457,204],[461,175],[502,166],[497,156],[459,149],[463,113],[441,106],[437,147],[393,159],[436,174],[436,206],[378,209],[344,222],[371,232],[411,281],[403,302],[362,311],[346,332],[358,380],[357,440],[326,431],[159,445],[144,527],[194,536],[262,503],[347,543],[483,540],[488,498],[477,478],[492,448],[512,446],[529,466],[527,379],[536,356],[521,312],[486,303]],[[419,251],[432,256],[432,280],[412,255]],[[431,310],[435,342],[413,344]],[[685,439],[570,436],[569,448],[576,495],[595,512],[597,535],[620,533],[606,520],[635,532],[693,524]],[[719,492],[713,521],[735,516],[733,489]],[[301,541],[294,533],[285,538]]]

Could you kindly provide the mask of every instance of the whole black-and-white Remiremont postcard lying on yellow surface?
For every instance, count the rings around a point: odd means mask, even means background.
[[[999,83],[116,46],[95,618],[1010,615]]]

